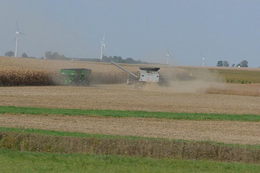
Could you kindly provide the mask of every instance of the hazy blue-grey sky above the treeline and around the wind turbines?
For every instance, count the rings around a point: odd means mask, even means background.
[[[42,57],[46,51],[66,57],[104,55],[166,63],[201,65],[201,51],[216,66],[247,60],[260,66],[260,0],[255,1],[36,1],[0,0],[0,55]]]

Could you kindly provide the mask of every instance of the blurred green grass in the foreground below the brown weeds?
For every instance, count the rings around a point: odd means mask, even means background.
[[[257,172],[259,164],[0,149],[0,172]]]

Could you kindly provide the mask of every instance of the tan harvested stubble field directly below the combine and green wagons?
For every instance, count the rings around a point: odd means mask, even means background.
[[[1,106],[260,114],[260,97],[136,90],[126,84],[90,87],[1,87]]]

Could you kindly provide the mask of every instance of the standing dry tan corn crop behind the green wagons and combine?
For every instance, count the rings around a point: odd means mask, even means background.
[[[0,57],[0,85],[52,85],[60,84],[60,69],[88,68],[92,69],[92,83],[114,84],[126,82],[128,74],[110,63],[95,63],[84,61],[42,60]],[[139,71],[140,64],[121,64],[131,72]],[[151,65],[158,66],[158,65]],[[187,71],[184,69],[165,66],[161,74],[171,79],[185,79]]]

